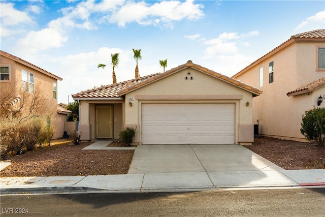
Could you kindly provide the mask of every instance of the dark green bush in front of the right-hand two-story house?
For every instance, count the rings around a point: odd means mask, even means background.
[[[300,132],[308,141],[325,145],[325,108],[314,108],[302,116]]]

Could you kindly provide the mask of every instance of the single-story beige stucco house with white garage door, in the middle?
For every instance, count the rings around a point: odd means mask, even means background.
[[[187,63],[73,95],[82,140],[118,139],[136,128],[137,144],[251,144],[252,99],[262,91]]]

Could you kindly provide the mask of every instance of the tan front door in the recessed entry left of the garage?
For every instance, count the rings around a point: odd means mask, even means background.
[[[96,108],[96,122],[98,139],[111,139],[112,138],[112,107],[103,106]]]

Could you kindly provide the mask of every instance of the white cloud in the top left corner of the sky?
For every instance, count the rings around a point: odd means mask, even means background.
[[[1,3],[0,6],[0,18],[2,26],[14,26],[22,23],[33,23],[28,14],[26,12],[16,10],[13,3]]]

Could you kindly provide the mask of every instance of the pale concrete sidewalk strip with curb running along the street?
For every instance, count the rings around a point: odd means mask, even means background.
[[[181,192],[229,188],[324,187],[325,169],[168,172],[98,176],[1,178],[1,194]]]

